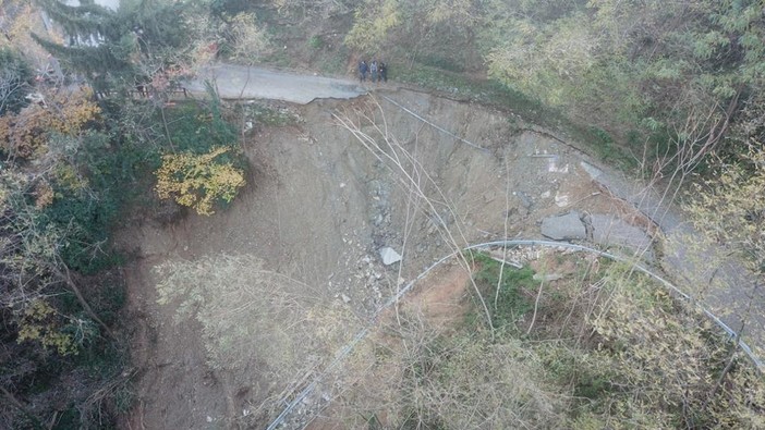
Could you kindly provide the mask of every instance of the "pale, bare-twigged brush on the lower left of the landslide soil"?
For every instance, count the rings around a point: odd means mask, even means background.
[[[177,309],[175,323],[201,324],[212,369],[240,384],[269,381],[266,401],[255,410],[279,407],[278,401],[300,389],[294,382],[329,361],[359,328],[347,307],[263,269],[253,256],[166,261],[155,272],[158,303]]]

